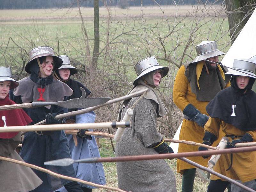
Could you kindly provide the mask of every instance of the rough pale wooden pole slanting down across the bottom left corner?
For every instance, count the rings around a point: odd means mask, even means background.
[[[108,186],[99,185],[99,184],[96,184],[96,183],[84,181],[84,180],[81,180],[81,179],[76,179],[76,178],[73,178],[73,177],[64,176],[64,175],[61,175],[61,174],[52,172],[52,171],[50,171],[50,170],[48,170],[48,169],[44,169],[44,168],[42,168],[42,167],[38,167],[38,166],[33,165],[33,164],[28,164],[28,163],[25,163],[25,162],[23,162],[23,161],[18,161],[18,160],[16,160],[16,159],[11,159],[11,158],[7,158],[7,157],[2,157],[2,156],[0,156],[0,160],[2,160],[2,161],[8,161],[8,162],[11,162],[11,163],[20,164],[20,165],[23,165],[23,166],[26,166],[26,167],[30,167],[30,168],[32,168],[32,169],[36,169],[36,170],[38,170],[38,171],[45,172],[45,173],[47,173],[47,174],[49,174],[49,175],[52,175],[53,177],[57,177],[57,178],[60,178],[60,179],[76,181],[76,182],[83,183],[83,184],[86,184],[86,185],[90,185],[90,186],[94,186],[94,187],[98,187],[98,188],[109,189],[109,190],[113,190],[113,191],[126,192],[126,191],[121,190],[121,189],[119,189],[119,188],[108,187]]]

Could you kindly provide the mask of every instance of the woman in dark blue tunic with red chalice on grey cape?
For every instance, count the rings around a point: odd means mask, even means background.
[[[52,72],[62,65],[62,60],[54,55],[49,46],[40,46],[29,51],[29,61],[25,70],[30,76],[19,81],[20,85],[13,90],[12,100],[16,103],[56,102],[70,96],[73,91],[68,85],[53,78]],[[46,119],[46,124],[62,124],[65,119],[56,119],[57,114],[67,112],[59,106],[27,108],[24,111],[36,124]],[[72,165],[67,167],[45,166],[45,161],[71,158],[68,139],[64,131],[45,131],[25,133],[20,156],[25,162],[49,169],[62,175],[76,177]],[[33,170],[43,183],[35,192],[51,192],[64,186],[68,192],[82,192],[81,186],[70,180],[56,179],[51,175]]]

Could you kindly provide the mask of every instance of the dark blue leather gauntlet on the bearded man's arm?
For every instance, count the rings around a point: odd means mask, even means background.
[[[206,124],[209,119],[209,116],[200,113],[200,111],[192,104],[188,104],[184,108],[183,114],[188,116],[192,121],[195,121],[201,127],[204,127],[204,124]]]

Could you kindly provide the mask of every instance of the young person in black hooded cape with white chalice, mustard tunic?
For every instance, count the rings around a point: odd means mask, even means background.
[[[232,76],[231,87],[220,91],[206,106],[210,118],[204,125],[204,144],[212,145],[220,129],[229,138],[227,148],[235,148],[237,143],[256,141],[256,94],[251,90],[256,78],[255,65],[247,59],[234,60],[233,68],[239,71],[230,70],[226,73]],[[199,150],[207,149],[199,147]],[[255,159],[255,151],[223,154],[213,170],[242,182],[255,180]],[[208,192],[222,192],[229,184],[215,175],[210,179]]]

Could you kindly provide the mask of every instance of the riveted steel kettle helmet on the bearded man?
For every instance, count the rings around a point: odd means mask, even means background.
[[[196,45],[197,57],[193,60],[193,63],[202,61],[215,56],[224,55],[226,53],[218,50],[216,41],[202,41]]]

